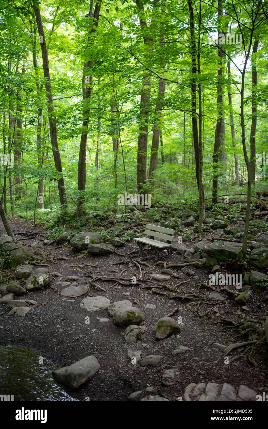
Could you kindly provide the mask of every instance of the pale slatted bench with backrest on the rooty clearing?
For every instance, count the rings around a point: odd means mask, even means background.
[[[171,246],[175,230],[170,228],[157,227],[156,225],[146,224],[145,234],[149,236],[149,239],[146,237],[140,239],[134,239],[137,241],[139,246],[139,256],[143,255],[143,249],[146,245],[151,246],[152,250],[156,252],[155,260],[158,261],[161,255],[161,252],[164,249],[167,249],[169,254],[172,254]],[[161,239],[164,241],[160,241]]]

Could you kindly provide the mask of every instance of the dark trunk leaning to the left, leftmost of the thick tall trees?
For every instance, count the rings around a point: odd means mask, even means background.
[[[40,14],[40,9],[37,8],[35,4],[33,4],[33,9],[35,13],[38,34],[40,38],[40,46],[41,46],[42,58],[43,58],[44,77],[46,79],[46,99],[47,99],[47,110],[49,115],[50,141],[52,145],[52,151],[53,151],[56,170],[62,173],[61,155],[58,149],[56,118],[54,114],[52,88],[51,88],[50,74],[49,74],[49,59],[48,59],[48,53],[46,49],[46,39],[45,39],[45,34],[43,29],[43,22]],[[67,207],[66,192],[64,188],[64,178],[63,177],[59,178],[57,182],[58,182],[58,191],[60,196],[61,207]]]

